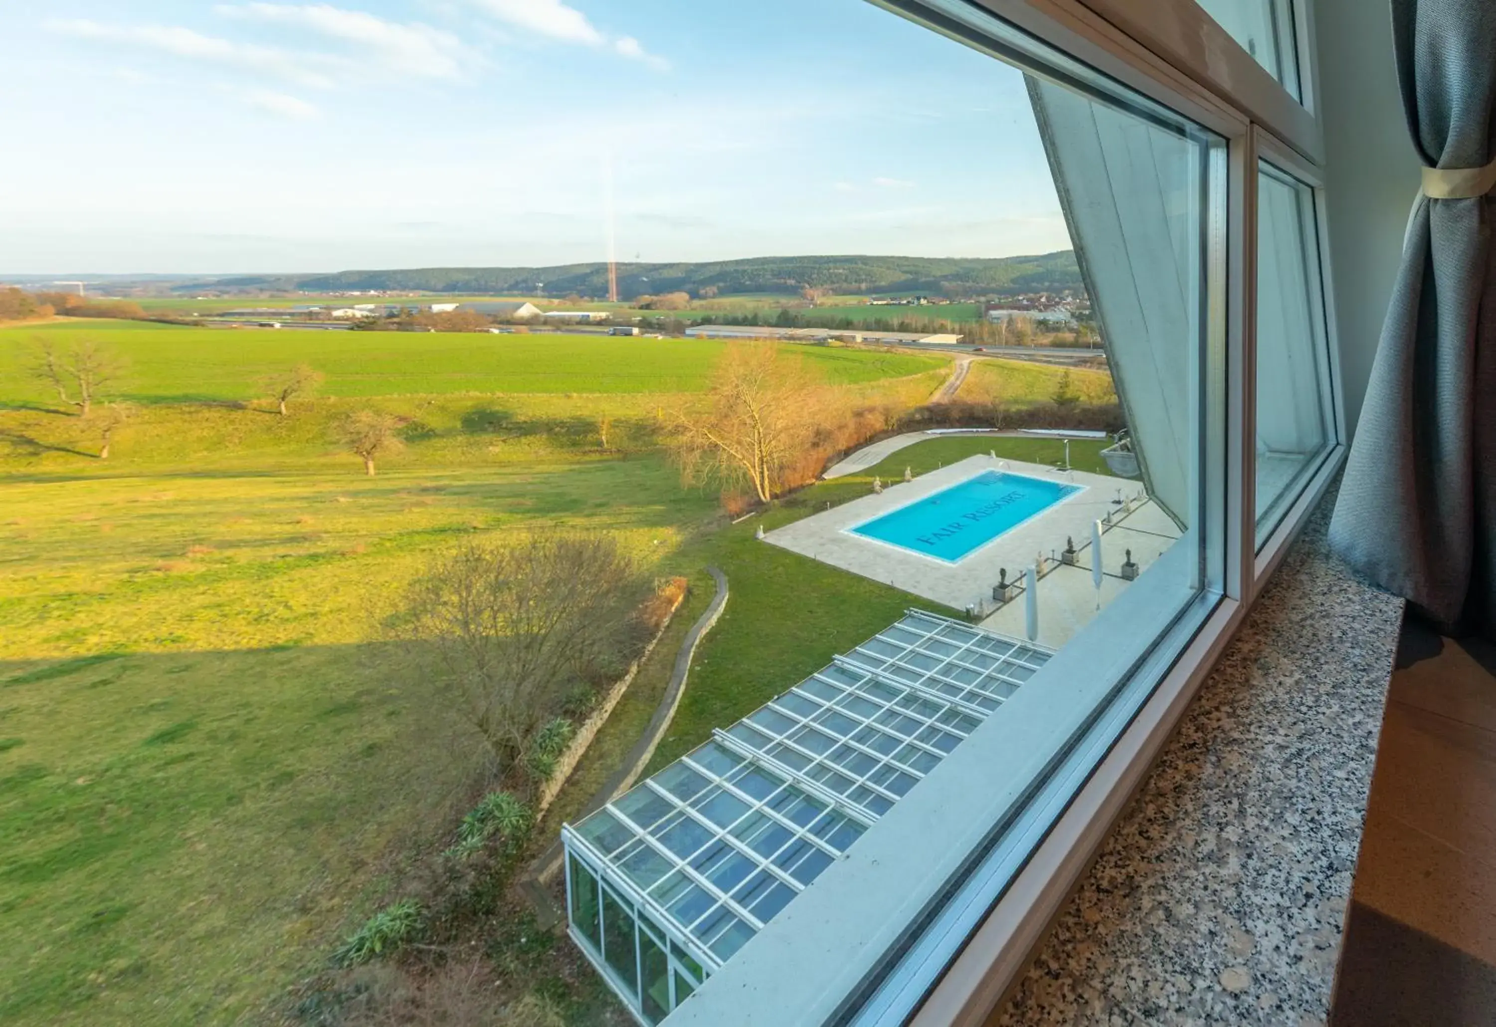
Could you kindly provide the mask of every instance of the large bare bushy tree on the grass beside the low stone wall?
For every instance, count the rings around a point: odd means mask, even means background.
[[[618,652],[639,590],[612,535],[537,532],[434,559],[392,625],[507,773]]]

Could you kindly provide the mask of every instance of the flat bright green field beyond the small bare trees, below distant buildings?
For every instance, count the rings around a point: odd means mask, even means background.
[[[589,335],[473,335],[197,329],[139,321],[54,321],[0,329],[0,401],[45,401],[24,374],[28,348],[96,338],[129,360],[121,395],[141,402],[242,401],[293,363],[326,375],[323,395],[675,393],[706,387],[723,344]],[[827,381],[920,374],[941,357],[869,350],[796,350]]]

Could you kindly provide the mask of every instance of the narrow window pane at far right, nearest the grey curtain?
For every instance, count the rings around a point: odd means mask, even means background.
[[[1257,544],[1334,438],[1313,190],[1261,166],[1257,197]]]

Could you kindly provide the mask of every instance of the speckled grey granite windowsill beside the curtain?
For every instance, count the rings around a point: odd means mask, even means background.
[[[990,1027],[1322,1024],[1402,599],[1324,499]]]

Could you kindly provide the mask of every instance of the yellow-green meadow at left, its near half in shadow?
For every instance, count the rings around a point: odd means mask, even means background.
[[[658,456],[347,471],[0,486],[0,1021],[259,1018],[467,780],[380,673],[426,555],[560,520],[657,562],[715,505]]]

